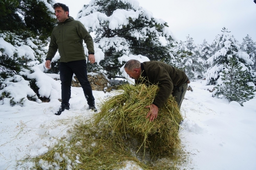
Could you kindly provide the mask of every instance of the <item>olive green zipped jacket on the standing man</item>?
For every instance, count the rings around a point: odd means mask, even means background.
[[[83,40],[89,54],[94,54],[93,40],[84,25],[69,17],[64,22],[57,22],[53,28],[46,60],[52,60],[57,50],[60,62],[85,60]]]

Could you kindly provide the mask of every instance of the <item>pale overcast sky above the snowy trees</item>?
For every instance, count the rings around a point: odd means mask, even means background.
[[[56,0],[76,17],[90,0]],[[249,34],[256,42],[256,4],[253,0],[138,0],[139,6],[162,18],[179,40],[190,35],[196,44],[209,44],[226,27],[241,43]]]

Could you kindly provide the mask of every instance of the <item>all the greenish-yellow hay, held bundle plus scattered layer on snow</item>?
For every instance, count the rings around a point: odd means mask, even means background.
[[[172,97],[159,109],[153,122],[146,119],[157,86],[124,85],[103,101],[91,120],[80,120],[70,130],[72,138],[62,139],[37,158],[35,169],[179,169],[184,152],[178,136],[182,116]],[[163,158],[155,159],[152,158]]]

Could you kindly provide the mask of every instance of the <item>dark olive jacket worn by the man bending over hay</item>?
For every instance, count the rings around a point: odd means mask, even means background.
[[[160,61],[141,63],[141,75],[136,84],[156,84],[160,87],[153,104],[160,108],[171,95],[173,88],[189,80],[185,72]]]

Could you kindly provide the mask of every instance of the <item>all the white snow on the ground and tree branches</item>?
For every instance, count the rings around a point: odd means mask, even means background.
[[[51,12],[53,0],[49,4],[46,0],[40,0],[46,4]],[[102,24],[109,24],[110,29],[122,28],[129,24],[130,20],[138,19],[139,15],[146,20],[152,21],[154,24],[164,24],[162,19],[153,17],[152,12],[139,6],[137,0],[118,0],[118,2],[129,3],[134,10],[118,9],[111,16],[98,12],[99,6],[93,6],[95,0],[91,0],[89,6],[83,7],[82,12],[77,14],[86,29],[95,31],[99,29]],[[161,43],[171,43],[177,41],[173,33],[168,27],[163,27],[163,32],[157,32],[156,27],[148,28],[146,25],[140,31],[132,30],[131,36],[137,40],[147,38],[147,31],[155,32],[157,37],[165,39]],[[6,38],[6,36],[3,36]],[[227,51],[235,42],[231,34],[225,33],[222,41],[219,42],[221,35],[217,36],[216,47],[223,47],[217,51],[212,57],[208,59],[209,63],[219,56],[226,55]],[[60,116],[54,113],[58,110],[61,102],[61,82],[59,74],[44,73],[44,62],[39,64],[35,60],[36,53],[43,54],[36,40],[28,38],[22,41],[16,37],[13,40],[13,45],[0,37],[0,49],[10,58],[25,57],[34,61],[28,63],[31,66],[31,71],[22,69],[19,75],[9,77],[7,79],[0,79],[2,86],[0,94],[3,92],[10,92],[11,98],[4,98],[0,100],[0,169],[28,169],[33,166],[32,162],[23,163],[21,160],[27,157],[36,157],[48,152],[48,147],[53,146],[58,140],[72,138],[68,130],[73,124],[77,123],[78,119],[89,119],[94,112],[88,110],[88,104],[83,94],[82,88],[71,88],[70,110],[65,110]],[[153,40],[152,40],[153,41]],[[166,42],[164,42],[166,41]],[[35,42],[35,43],[34,43]],[[156,45],[159,44],[153,41]],[[234,44],[239,48],[237,44]],[[135,56],[129,52],[129,43],[121,37],[102,38],[95,47],[95,62],[99,64],[104,59],[104,52],[110,48],[115,48],[117,52],[122,52],[124,55],[118,58],[120,64],[124,64],[130,59],[137,59],[140,62],[149,61],[145,56]],[[102,49],[100,49],[100,48]],[[188,50],[184,47],[185,50]],[[207,51],[205,51],[207,52]],[[245,52],[235,52],[239,59],[245,60],[245,64],[253,64],[249,59],[249,55]],[[85,53],[88,50],[85,48]],[[2,53],[0,53],[2,55]],[[232,57],[230,55],[230,57]],[[57,53],[52,61],[60,58]],[[192,63],[192,59],[186,61],[187,65]],[[90,64],[90,63],[88,63]],[[114,64],[109,62],[109,64]],[[243,64],[243,68],[247,66]],[[34,66],[35,65],[35,66]],[[208,71],[208,76],[217,78],[221,73],[218,73],[223,66],[213,66]],[[128,82],[134,83],[133,79],[124,71],[124,66],[120,68],[121,76],[128,79]],[[105,70],[101,72],[106,73]],[[93,73],[88,73],[93,74]],[[252,73],[255,74],[255,73]],[[40,97],[49,98],[50,102],[42,102],[36,97],[36,93],[29,87],[29,81],[22,76],[29,79],[36,80],[36,85],[39,88],[38,93]],[[57,80],[55,80],[57,79]],[[219,81],[221,81],[219,79]],[[249,82],[252,83],[252,82]],[[180,138],[183,149],[188,153],[189,161],[183,164],[183,169],[199,169],[199,170],[255,170],[255,153],[256,153],[256,98],[244,102],[244,107],[241,107],[238,102],[228,102],[226,99],[218,99],[212,97],[214,86],[205,86],[207,80],[195,80],[189,85],[193,91],[187,91],[185,99],[181,106],[181,112],[184,116],[184,121],[181,124]],[[221,84],[221,82],[218,82]],[[252,84],[253,85],[253,84]],[[105,89],[106,91],[106,89]],[[105,99],[109,93],[103,91],[93,91],[97,109],[100,109],[100,101]],[[35,101],[29,101],[27,97],[34,97]],[[19,103],[22,99],[25,101]],[[12,106],[10,102],[17,104]],[[77,142],[76,145],[80,145]],[[95,146],[97,143],[92,143]],[[67,169],[72,169],[72,162],[64,154],[55,153],[55,160],[62,161],[65,159],[69,163]],[[80,160],[81,161],[81,160]],[[77,156],[75,162],[81,163]],[[53,168],[47,161],[40,160],[42,169]],[[127,162],[123,169],[134,169],[136,165],[133,162]],[[141,169],[140,167],[136,167]]]

